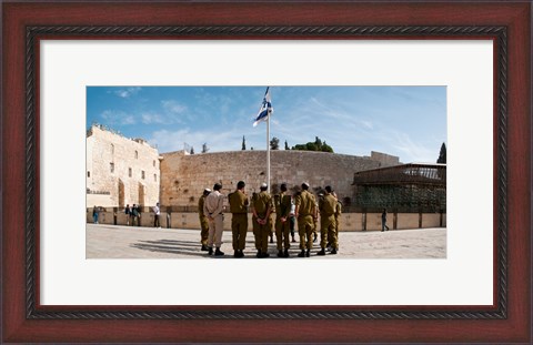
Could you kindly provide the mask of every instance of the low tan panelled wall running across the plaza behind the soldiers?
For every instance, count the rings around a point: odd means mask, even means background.
[[[141,213],[141,226],[153,226],[153,212]],[[249,231],[252,231],[252,214],[249,213]],[[128,225],[123,212],[100,212],[100,224]],[[87,212],[87,222],[92,223],[92,210]],[[161,212],[159,216],[161,227],[171,229],[200,229],[198,213],[193,212]],[[130,224],[131,225],[131,220]],[[443,213],[389,213],[386,225],[391,230],[445,227],[446,214]],[[135,224],[137,226],[137,224]],[[298,226],[296,226],[298,230]],[[319,220],[320,230],[320,220]],[[224,214],[224,231],[231,231],[231,213]],[[343,213],[341,215],[340,231],[381,231],[381,213]]]

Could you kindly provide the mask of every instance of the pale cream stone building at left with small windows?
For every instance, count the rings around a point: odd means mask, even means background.
[[[159,202],[160,156],[144,140],[92,125],[87,133],[86,159],[88,207]]]

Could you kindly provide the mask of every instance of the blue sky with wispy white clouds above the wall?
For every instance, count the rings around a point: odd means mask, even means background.
[[[88,87],[87,126],[143,138],[159,152],[266,149],[253,128],[266,87]],[[335,153],[379,151],[400,161],[436,162],[446,142],[445,87],[271,87],[270,138],[280,149],[319,136]]]

